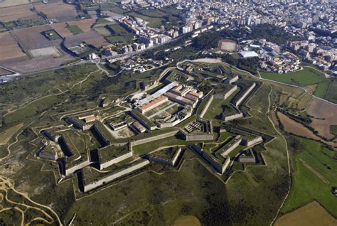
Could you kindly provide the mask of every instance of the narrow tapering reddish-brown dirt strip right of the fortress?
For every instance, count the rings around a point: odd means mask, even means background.
[[[309,129],[304,127],[304,125],[302,125],[298,122],[295,122],[293,119],[290,119],[285,114],[282,114],[281,112],[277,112],[277,116],[279,117],[279,119],[281,120],[281,122],[284,126],[284,131],[286,131],[288,133],[291,133],[291,134],[295,134],[297,136],[302,136],[302,137],[306,137],[306,138],[309,138],[309,139],[314,139],[316,141],[322,141],[323,143],[328,144],[328,145],[333,146],[333,147],[336,146],[336,143],[324,141],[319,136],[316,136]]]

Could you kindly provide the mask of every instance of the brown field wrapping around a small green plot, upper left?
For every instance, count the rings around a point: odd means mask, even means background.
[[[63,22],[63,23],[54,23],[52,27],[60,33],[61,36],[67,37],[73,35],[67,28],[67,24],[69,26],[78,26],[83,32],[90,31],[91,26],[95,23],[95,19],[90,18],[86,20],[81,20],[81,21],[68,21],[68,22]]]

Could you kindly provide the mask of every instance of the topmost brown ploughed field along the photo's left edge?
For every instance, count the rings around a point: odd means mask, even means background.
[[[29,4],[0,8],[0,21],[9,22],[18,19],[25,20],[31,18],[38,18],[38,15],[31,11],[31,6]]]

